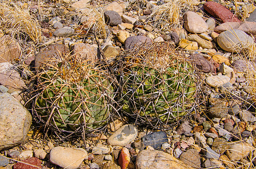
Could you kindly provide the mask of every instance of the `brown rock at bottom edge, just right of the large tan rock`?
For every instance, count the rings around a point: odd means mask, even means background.
[[[188,149],[183,152],[180,155],[180,160],[191,167],[201,168],[200,155],[196,149]]]

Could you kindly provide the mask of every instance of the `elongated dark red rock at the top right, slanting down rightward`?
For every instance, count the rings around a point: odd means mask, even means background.
[[[220,19],[223,23],[227,22],[241,22],[228,8],[220,5],[219,3],[210,1],[203,5],[204,10],[209,12],[212,16]]]

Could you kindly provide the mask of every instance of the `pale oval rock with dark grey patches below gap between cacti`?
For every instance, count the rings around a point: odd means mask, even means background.
[[[113,146],[125,146],[133,142],[137,135],[137,128],[131,124],[126,124],[108,138],[108,144]]]

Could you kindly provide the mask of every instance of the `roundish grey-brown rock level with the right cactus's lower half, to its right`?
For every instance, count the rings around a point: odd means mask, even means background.
[[[224,118],[228,115],[228,107],[223,104],[212,106],[209,110],[210,117]]]

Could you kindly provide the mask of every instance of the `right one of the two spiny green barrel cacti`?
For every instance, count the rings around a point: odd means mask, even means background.
[[[193,111],[193,65],[165,44],[125,54],[120,81],[123,112],[138,124],[170,124]]]

